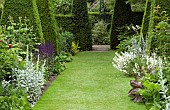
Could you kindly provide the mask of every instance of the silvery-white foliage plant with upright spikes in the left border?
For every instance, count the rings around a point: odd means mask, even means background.
[[[24,69],[15,68],[13,71],[15,73],[17,86],[24,88],[28,94],[28,101],[34,105],[34,103],[39,99],[42,94],[42,87],[45,82],[44,72],[45,72],[45,62],[43,65],[39,65],[39,58],[36,64],[32,61],[32,55],[29,55],[27,47],[26,64]],[[30,58],[29,58],[30,57]]]

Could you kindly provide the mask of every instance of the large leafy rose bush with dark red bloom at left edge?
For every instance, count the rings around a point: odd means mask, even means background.
[[[34,52],[40,38],[33,33],[28,19],[19,18],[19,23],[15,23],[12,17],[8,26],[1,26],[0,36],[0,77],[8,79],[12,74],[12,68],[23,66],[26,45],[30,45],[30,50]]]

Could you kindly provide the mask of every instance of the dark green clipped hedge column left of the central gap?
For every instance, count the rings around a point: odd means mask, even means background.
[[[73,0],[74,37],[81,50],[92,49],[91,29],[88,20],[86,0]]]

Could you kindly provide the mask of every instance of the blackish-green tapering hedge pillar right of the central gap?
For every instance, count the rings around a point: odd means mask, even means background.
[[[114,11],[111,23],[111,35],[110,35],[110,47],[116,49],[119,44],[117,27],[121,27],[125,24],[130,24],[132,19],[132,11],[130,4],[126,4],[124,0],[115,0]]]

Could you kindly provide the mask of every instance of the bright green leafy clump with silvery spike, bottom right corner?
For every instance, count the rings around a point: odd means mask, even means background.
[[[158,60],[158,71],[156,74],[147,74],[142,80],[143,89],[139,94],[144,97],[148,109],[169,110],[170,109],[170,88],[169,71],[165,69],[167,64],[161,59]],[[169,65],[168,65],[169,66]]]

